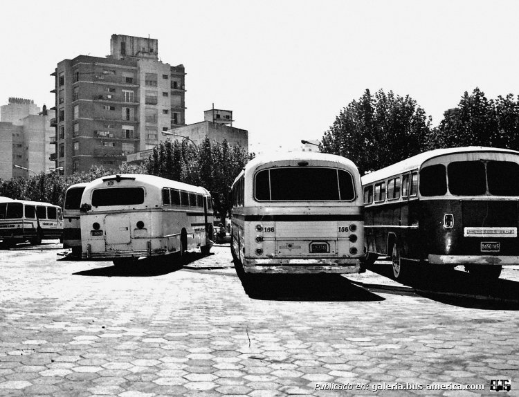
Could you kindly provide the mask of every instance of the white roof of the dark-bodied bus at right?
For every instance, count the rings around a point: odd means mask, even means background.
[[[388,178],[389,176],[403,174],[405,172],[409,172],[415,169],[419,169],[423,163],[431,158],[446,156],[448,154],[458,154],[458,153],[472,153],[472,152],[491,152],[491,153],[505,153],[505,154],[518,154],[519,151],[510,150],[510,149],[500,149],[498,147],[483,147],[483,146],[467,146],[467,147],[449,147],[447,149],[435,149],[430,151],[425,151],[424,153],[417,154],[416,156],[412,156],[410,158],[406,158],[406,160],[399,161],[399,163],[394,163],[388,167],[379,169],[377,171],[371,172],[370,174],[366,174],[362,176],[362,184],[367,185],[368,183],[373,183],[375,181],[379,181],[381,179]]]

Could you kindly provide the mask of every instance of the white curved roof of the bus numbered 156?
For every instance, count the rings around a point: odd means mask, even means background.
[[[327,163],[334,163],[337,167],[353,169],[357,172],[357,166],[352,160],[343,156],[336,156],[335,154],[318,153],[311,151],[292,151],[289,153],[276,153],[270,155],[261,155],[249,161],[242,172],[235,178],[235,182],[245,173],[254,172],[260,165],[268,163],[282,163],[284,161],[325,161]],[[310,165],[311,166],[311,165]]]

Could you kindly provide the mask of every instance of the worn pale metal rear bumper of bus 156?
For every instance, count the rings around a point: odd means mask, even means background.
[[[244,259],[245,273],[362,273],[361,259]]]

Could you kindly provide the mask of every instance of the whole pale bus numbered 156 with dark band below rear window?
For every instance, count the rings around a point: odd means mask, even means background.
[[[361,179],[320,153],[251,160],[233,183],[230,249],[242,281],[255,273],[360,273]]]

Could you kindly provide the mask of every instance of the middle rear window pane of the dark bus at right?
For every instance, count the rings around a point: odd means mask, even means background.
[[[482,161],[455,161],[447,166],[448,190],[455,196],[486,193],[485,165]]]

